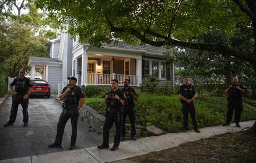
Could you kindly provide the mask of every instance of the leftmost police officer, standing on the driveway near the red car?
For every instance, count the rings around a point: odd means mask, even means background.
[[[19,77],[15,78],[10,84],[10,90],[12,92],[12,108],[10,120],[4,124],[4,127],[14,124],[19,104],[22,106],[23,126],[26,127],[28,125],[28,96],[32,90],[32,85],[30,84],[30,79],[25,77],[25,70],[20,69],[19,74]],[[15,90],[12,88],[14,85]]]

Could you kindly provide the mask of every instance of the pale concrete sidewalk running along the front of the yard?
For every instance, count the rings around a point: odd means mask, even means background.
[[[226,132],[238,132],[245,127],[252,127],[254,121],[241,122],[241,128],[231,124],[229,127],[215,126],[200,129],[200,133],[190,130],[186,133],[168,133],[158,137],[141,138],[137,141],[124,141],[117,151],[110,149],[99,150],[96,146],[91,148],[76,149],[73,151],[62,151],[59,153],[42,154],[17,159],[7,159],[1,162],[87,162],[103,163],[127,159],[129,157],[140,156],[142,154],[173,148],[189,141],[200,140]],[[100,144],[101,142],[99,142]],[[110,145],[111,147],[111,145]],[[22,150],[22,149],[21,149]]]

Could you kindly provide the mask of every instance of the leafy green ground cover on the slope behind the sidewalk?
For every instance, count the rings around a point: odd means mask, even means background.
[[[103,98],[87,98],[85,103],[95,108],[100,114],[105,113]],[[139,93],[135,103],[137,124],[154,124],[166,132],[179,132],[182,129],[181,101],[177,95],[163,96]],[[227,112],[227,100],[224,97],[211,97],[203,94],[195,100],[195,110],[199,127],[220,125],[224,122]],[[244,107],[241,121],[255,119],[256,111]],[[189,117],[189,127],[193,128]]]

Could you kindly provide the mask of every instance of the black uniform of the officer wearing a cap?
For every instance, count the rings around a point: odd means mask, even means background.
[[[61,93],[64,93],[67,88],[68,86],[64,87]],[[70,146],[74,146],[77,141],[77,121],[79,119],[79,110],[77,109],[77,106],[79,105],[80,98],[85,96],[82,89],[80,89],[80,87],[77,85],[70,89],[70,92],[67,93],[66,97],[64,98],[63,111],[59,117],[59,122],[57,125],[57,135],[54,142],[55,145],[61,145],[65,125],[69,118],[71,119],[72,125]]]

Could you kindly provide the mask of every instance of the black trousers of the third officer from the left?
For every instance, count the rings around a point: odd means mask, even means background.
[[[103,145],[109,146],[109,130],[113,126],[113,124],[116,125],[116,135],[114,135],[114,146],[118,147],[121,139],[121,133],[122,133],[122,111],[112,111],[109,112],[106,116],[104,126],[103,126]]]

